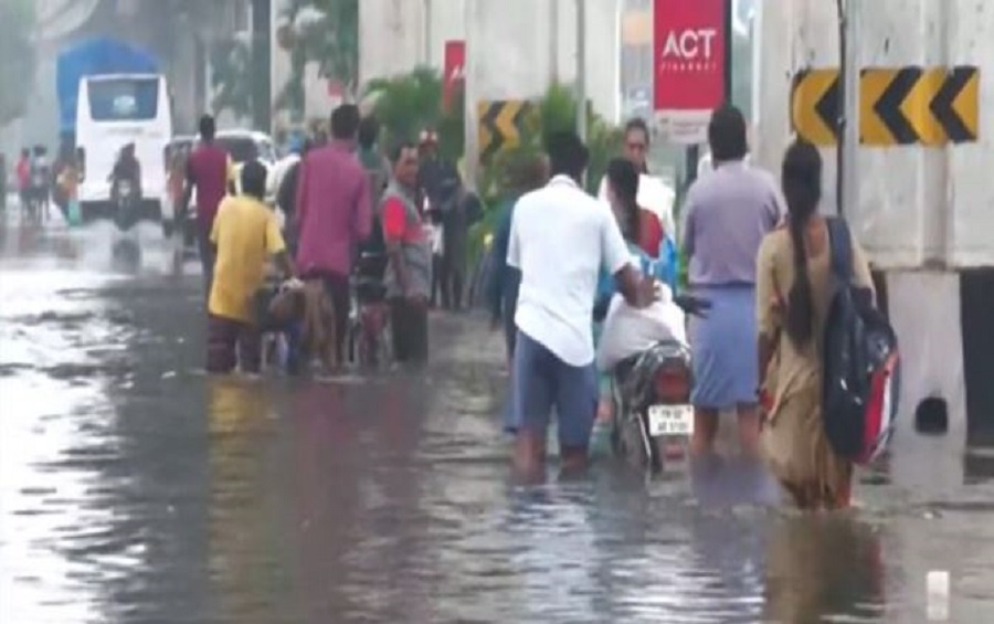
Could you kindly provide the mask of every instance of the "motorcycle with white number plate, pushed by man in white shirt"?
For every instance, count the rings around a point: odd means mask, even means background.
[[[700,317],[710,307],[690,296],[674,297],[674,304]],[[690,358],[686,342],[662,340],[614,367],[611,385],[617,419],[611,442],[616,456],[658,473],[668,450],[685,445],[694,435]]]

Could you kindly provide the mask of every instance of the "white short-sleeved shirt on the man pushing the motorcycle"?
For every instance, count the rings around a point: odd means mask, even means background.
[[[518,328],[569,366],[593,362],[601,267],[613,275],[631,263],[611,210],[557,176],[515,205],[507,263],[521,271]]]

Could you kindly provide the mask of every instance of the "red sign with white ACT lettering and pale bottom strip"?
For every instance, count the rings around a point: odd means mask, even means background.
[[[707,142],[725,101],[727,0],[655,0],[655,109],[672,142]]]

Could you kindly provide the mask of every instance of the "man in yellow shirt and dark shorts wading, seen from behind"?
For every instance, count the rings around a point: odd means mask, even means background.
[[[211,230],[216,261],[208,300],[208,372],[257,373],[261,336],[254,298],[265,279],[269,256],[287,277],[294,267],[286,253],[276,214],[263,203],[266,168],[256,161],[242,167],[242,194],[225,198]]]

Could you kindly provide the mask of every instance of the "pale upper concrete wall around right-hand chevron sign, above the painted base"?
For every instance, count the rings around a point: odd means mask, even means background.
[[[994,98],[994,4],[983,0],[874,0],[859,11],[860,66],[976,65],[981,101]],[[762,3],[757,67],[758,158],[776,170],[790,140],[790,81],[838,65],[835,3]],[[881,268],[994,266],[994,116],[981,106],[980,141],[947,148],[861,148],[858,204],[846,215]],[[834,189],[834,150],[826,150]]]

